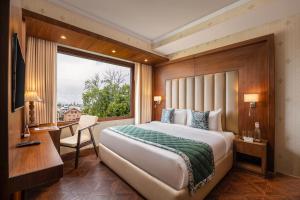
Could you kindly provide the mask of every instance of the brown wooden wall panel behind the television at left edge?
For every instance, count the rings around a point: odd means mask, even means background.
[[[9,158],[11,145],[15,145],[13,138],[20,137],[23,128],[23,108],[11,112],[11,61],[12,36],[18,33],[22,53],[25,53],[25,32],[22,26],[21,0],[0,1],[0,199],[8,199],[9,194]]]

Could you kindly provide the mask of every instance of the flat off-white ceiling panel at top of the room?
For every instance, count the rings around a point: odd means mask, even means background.
[[[147,40],[157,40],[238,0],[50,0]]]

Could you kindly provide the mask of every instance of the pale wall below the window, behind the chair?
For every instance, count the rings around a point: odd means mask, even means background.
[[[122,119],[122,120],[113,120],[113,121],[104,121],[104,122],[99,122],[99,125],[97,125],[94,130],[93,130],[93,135],[96,141],[96,144],[98,145],[100,142],[100,134],[101,131],[105,128],[111,127],[111,126],[118,126],[118,125],[128,125],[128,124],[134,124],[134,118],[130,118],[130,119]],[[73,127],[74,131],[76,130],[76,126]],[[66,128],[63,129],[62,133],[61,133],[61,138],[65,138],[71,136],[71,132],[70,129]],[[93,148],[92,145],[89,145],[85,148]],[[82,148],[84,149],[84,148]],[[66,154],[69,152],[73,152],[75,151],[75,149],[73,148],[67,148],[67,147],[60,147],[60,154]]]

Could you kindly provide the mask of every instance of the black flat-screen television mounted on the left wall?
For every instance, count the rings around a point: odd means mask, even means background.
[[[18,35],[12,41],[12,111],[24,107],[25,61],[22,55]]]

